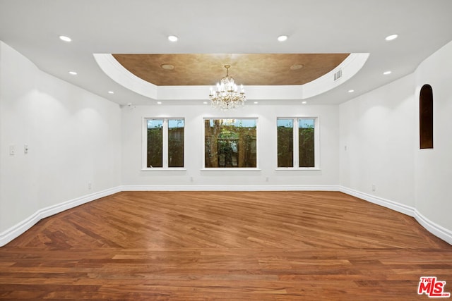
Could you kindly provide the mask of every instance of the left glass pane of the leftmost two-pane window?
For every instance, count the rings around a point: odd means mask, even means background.
[[[163,167],[163,120],[148,119],[148,167]]]

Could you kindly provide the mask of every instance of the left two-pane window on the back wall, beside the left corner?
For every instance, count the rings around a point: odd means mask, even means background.
[[[145,168],[184,167],[184,119],[145,119]]]

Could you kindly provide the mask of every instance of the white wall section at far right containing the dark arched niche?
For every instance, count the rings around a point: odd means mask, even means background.
[[[419,116],[422,85],[433,89],[434,148],[415,149],[416,209],[429,221],[452,232],[452,42],[417,68],[415,109]],[[415,127],[419,128],[419,119]],[[418,138],[417,138],[418,139]],[[441,229],[442,230],[442,229]],[[441,235],[441,233],[436,233]]]

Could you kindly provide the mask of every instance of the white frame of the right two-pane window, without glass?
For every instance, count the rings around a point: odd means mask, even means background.
[[[292,167],[279,167],[278,166],[278,120],[292,119],[293,125],[293,166]],[[300,119],[312,119],[314,120],[314,167],[300,167],[299,166],[299,120]],[[277,171],[319,171],[320,166],[320,118],[319,116],[291,116],[291,117],[277,117],[276,118],[276,143],[275,143],[275,163]]]

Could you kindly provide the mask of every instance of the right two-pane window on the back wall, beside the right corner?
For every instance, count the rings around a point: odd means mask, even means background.
[[[318,168],[317,118],[278,118],[278,168]]]

